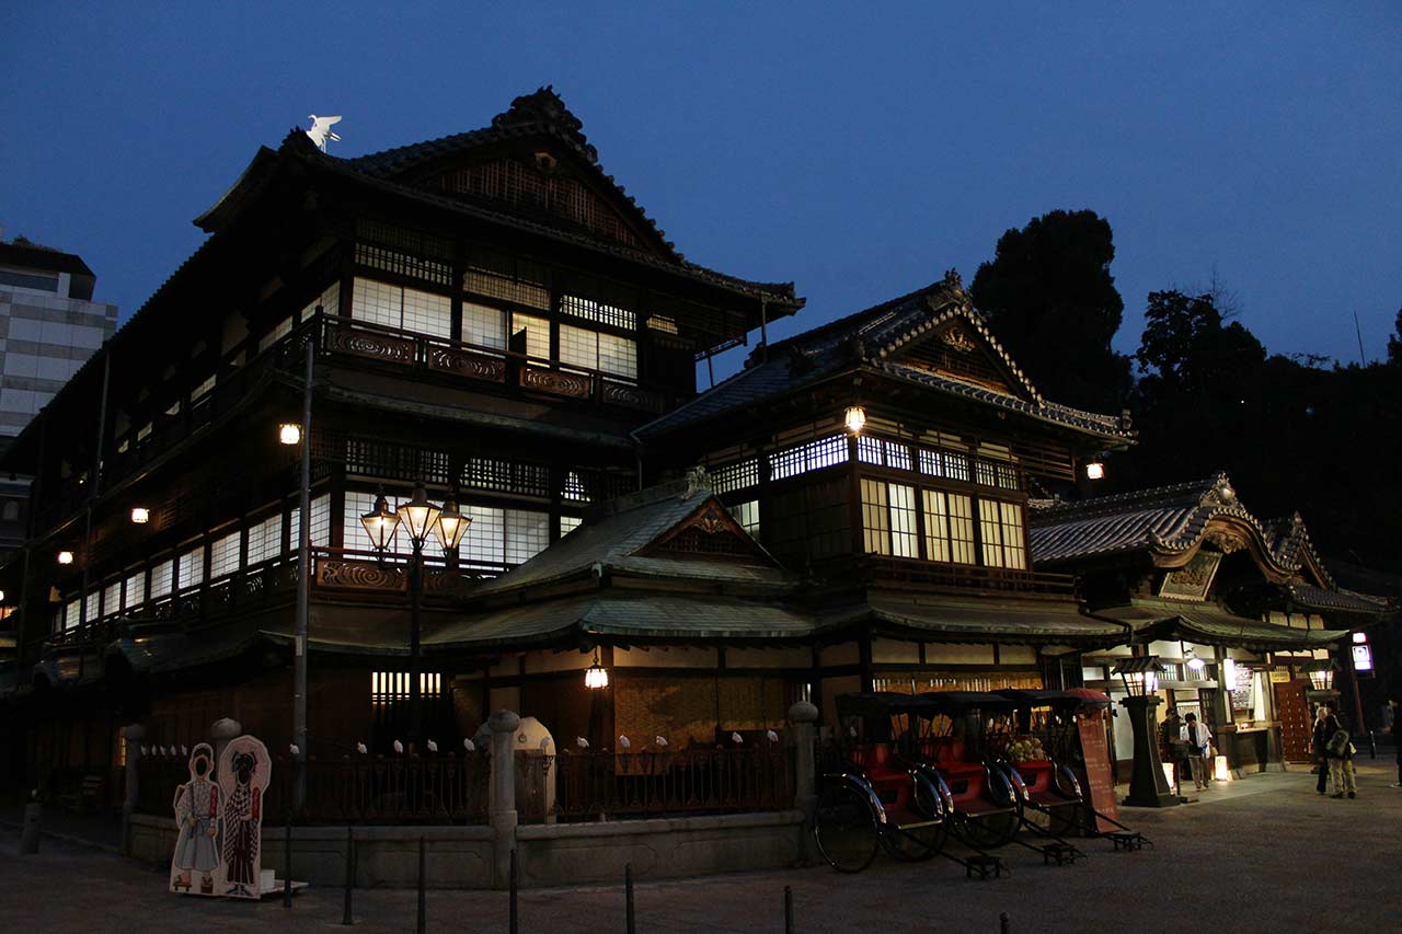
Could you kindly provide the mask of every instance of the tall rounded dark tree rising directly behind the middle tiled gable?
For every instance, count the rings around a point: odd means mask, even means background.
[[[1110,348],[1124,302],[1115,289],[1110,224],[1094,210],[1053,210],[998,238],[970,296],[994,335],[1047,398],[1119,412],[1129,358]]]

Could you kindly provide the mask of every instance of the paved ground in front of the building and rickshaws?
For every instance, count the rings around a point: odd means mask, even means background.
[[[1335,801],[1304,770],[1256,776],[1209,791],[1199,804],[1133,811],[1129,820],[1155,847],[1043,867],[1009,851],[1012,875],[967,882],[948,861],[907,865],[885,858],[857,877],[808,868],[638,885],[639,931],[780,931],[784,886],[792,886],[798,931],[1251,931],[1399,930],[1402,790],[1389,759],[1360,760],[1360,795]],[[212,902],[164,892],[164,871],[102,850],[43,841],[18,857],[17,834],[0,839],[0,919],[6,931],[278,931],[338,927],[339,891],[300,893],[292,907]],[[358,891],[356,927],[414,930],[415,893]],[[1190,907],[1185,907],[1190,906]],[[501,892],[429,892],[429,930],[506,930]],[[523,931],[622,931],[621,886],[530,891]]]

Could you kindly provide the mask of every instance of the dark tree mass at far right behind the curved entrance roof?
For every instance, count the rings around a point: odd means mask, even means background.
[[[1298,510],[1325,555],[1402,571],[1402,367],[1266,356],[1210,295],[1154,292],[1134,355],[1140,443],[1102,492],[1231,474],[1248,508]]]

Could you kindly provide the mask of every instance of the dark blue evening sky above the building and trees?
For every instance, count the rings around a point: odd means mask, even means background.
[[[1272,352],[1357,360],[1356,310],[1385,355],[1402,306],[1391,1],[387,6],[4,4],[6,237],[80,252],[125,320],[307,114],[356,156],[552,83],[688,258],[796,280],[780,337],[972,280],[1056,208],[1115,229],[1124,351],[1147,292],[1214,276]]]

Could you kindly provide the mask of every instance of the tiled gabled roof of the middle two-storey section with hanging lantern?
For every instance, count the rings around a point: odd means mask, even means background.
[[[1015,394],[998,393],[976,383],[900,363],[897,353],[906,344],[955,318],[983,338],[1008,372]],[[1046,401],[988,332],[983,318],[969,304],[963,285],[953,272],[924,289],[780,341],[767,351],[756,349],[744,370],[642,426],[638,435],[659,436],[690,428],[754,402],[799,391],[857,367],[1105,438],[1131,436],[1120,418]]]

